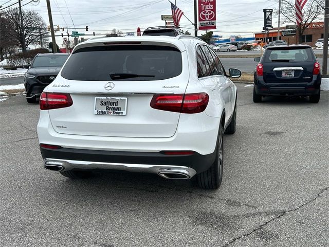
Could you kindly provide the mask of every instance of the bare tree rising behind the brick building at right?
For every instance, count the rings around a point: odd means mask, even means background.
[[[318,21],[323,17],[324,0],[307,1],[302,12],[304,21],[297,27],[299,44],[302,43],[303,33],[310,23]],[[283,23],[295,23],[297,26],[295,0],[281,0],[281,14],[283,15]]]

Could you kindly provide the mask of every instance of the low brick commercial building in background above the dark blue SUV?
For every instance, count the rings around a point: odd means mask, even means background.
[[[277,40],[277,36],[278,36],[278,28],[273,28],[273,30],[270,30],[268,34],[261,32],[255,33],[255,40],[272,42]],[[323,36],[324,36],[324,22],[313,22],[304,31],[302,36],[302,41],[303,44],[314,46],[315,42],[318,39],[321,38],[323,39]],[[280,27],[280,40],[284,40],[289,44],[297,44],[298,34],[296,34],[296,29],[294,29],[294,26],[292,26],[291,29],[287,29],[286,27]]]

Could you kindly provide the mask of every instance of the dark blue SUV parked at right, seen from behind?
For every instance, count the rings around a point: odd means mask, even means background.
[[[320,100],[321,69],[309,45],[269,46],[254,73],[253,102],[268,95],[309,96]]]

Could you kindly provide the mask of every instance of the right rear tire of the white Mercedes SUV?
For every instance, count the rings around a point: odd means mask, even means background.
[[[216,158],[211,167],[196,175],[196,181],[200,188],[218,189],[223,178],[223,126],[221,125],[216,144]]]

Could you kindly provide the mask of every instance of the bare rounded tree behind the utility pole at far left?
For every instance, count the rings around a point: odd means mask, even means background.
[[[44,30],[46,30],[46,23],[42,16],[34,10],[22,10],[23,14],[23,26],[24,37],[22,34],[21,17],[18,9],[9,9],[5,13],[5,17],[8,20],[10,26],[13,29],[14,36],[12,39],[17,45],[23,47],[23,40],[28,47],[30,44],[40,44],[45,36]]]

